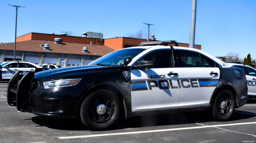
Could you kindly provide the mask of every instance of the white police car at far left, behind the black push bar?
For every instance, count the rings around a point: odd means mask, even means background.
[[[41,68],[33,63],[21,61],[2,62],[0,65],[2,68],[2,79],[11,79],[12,76],[18,71],[34,72],[36,68]]]

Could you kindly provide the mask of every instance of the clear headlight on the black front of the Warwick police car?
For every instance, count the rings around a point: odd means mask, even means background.
[[[45,81],[43,83],[44,83],[45,89],[51,89],[51,88],[58,88],[58,87],[69,87],[77,84],[80,80],[81,78],[63,79],[63,80]]]

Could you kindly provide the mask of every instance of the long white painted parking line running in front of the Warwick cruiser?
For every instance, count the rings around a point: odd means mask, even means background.
[[[187,127],[187,128],[174,128],[174,129],[163,129],[163,130],[150,130],[150,131],[137,131],[137,132],[122,132],[122,133],[108,133],[108,134],[94,134],[94,135],[80,135],[80,136],[64,136],[64,137],[58,137],[58,138],[59,139],[86,138],[86,137],[98,137],[98,136],[110,136],[110,135],[124,135],[124,134],[139,134],[139,133],[166,132],[166,131],[176,131],[176,130],[201,129],[201,128],[235,126],[235,125],[246,125],[246,124],[256,124],[256,122],[237,123],[237,124],[223,124],[223,125],[212,125],[212,126],[199,126],[199,127]]]

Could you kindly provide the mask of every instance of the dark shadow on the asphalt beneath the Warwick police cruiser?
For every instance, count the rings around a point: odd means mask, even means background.
[[[239,121],[253,117],[256,117],[256,115],[252,112],[234,112],[233,116],[227,121]],[[36,127],[45,126],[57,130],[88,130],[88,128],[84,127],[81,121],[77,119],[60,119],[36,116],[27,120],[32,120],[34,123],[38,124]],[[172,113],[163,115],[147,115],[135,117],[132,119],[124,119],[124,117],[121,117],[119,119],[119,122],[110,130],[194,124],[205,122],[216,122],[216,120],[212,116],[210,116],[208,112],[202,111]]]

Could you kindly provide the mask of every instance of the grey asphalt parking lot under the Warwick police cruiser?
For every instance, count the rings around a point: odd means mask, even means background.
[[[120,119],[111,130],[90,131],[75,119],[19,112],[7,104],[8,82],[0,82],[0,142],[256,142],[256,100],[226,122],[205,112]]]

